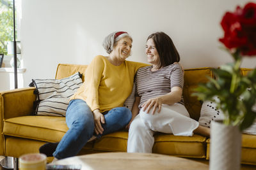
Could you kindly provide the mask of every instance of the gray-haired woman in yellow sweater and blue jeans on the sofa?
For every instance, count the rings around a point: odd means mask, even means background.
[[[132,38],[113,32],[103,42],[109,56],[96,56],[86,69],[85,81],[70,98],[66,113],[68,131],[60,143],[47,143],[40,153],[64,159],[77,155],[94,138],[118,131],[129,123],[132,113],[123,107],[132,92],[136,71],[147,64],[127,61]]]

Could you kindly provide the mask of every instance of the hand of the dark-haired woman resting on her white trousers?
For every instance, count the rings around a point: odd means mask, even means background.
[[[162,107],[162,100],[160,97],[155,97],[152,99],[148,99],[145,103],[141,105],[142,110],[145,111],[146,113],[149,113],[150,109],[153,108],[152,110],[152,115],[154,115],[156,109],[158,108],[157,112],[160,113],[161,107]]]

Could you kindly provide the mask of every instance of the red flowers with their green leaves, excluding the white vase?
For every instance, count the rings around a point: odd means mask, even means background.
[[[244,55],[256,55],[256,4],[248,3],[244,8],[237,6],[234,13],[227,12],[221,26],[225,36],[220,41],[234,62],[212,69],[216,80],[209,78],[209,82],[200,84],[193,95],[215,102],[225,116],[223,123],[239,125],[242,131],[250,127],[256,117],[256,110],[252,110],[256,104],[256,69],[244,76],[240,70]]]

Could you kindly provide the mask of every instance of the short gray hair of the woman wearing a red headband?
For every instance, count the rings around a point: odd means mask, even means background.
[[[120,32],[120,31],[116,31],[116,32]],[[107,53],[111,53],[113,51],[113,48],[116,45],[116,42],[119,41],[120,39],[122,39],[124,37],[128,37],[132,40],[132,37],[127,32],[120,34],[119,36],[117,36],[115,38],[116,32],[112,32],[111,34],[106,36],[106,38],[104,39],[104,41],[102,43],[102,45],[105,48]]]

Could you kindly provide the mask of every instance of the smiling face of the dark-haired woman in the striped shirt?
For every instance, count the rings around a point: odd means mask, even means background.
[[[145,53],[147,54],[147,60],[150,64],[153,64],[154,66],[159,65],[160,57],[156,50],[156,46],[152,38],[148,39],[147,41]]]

